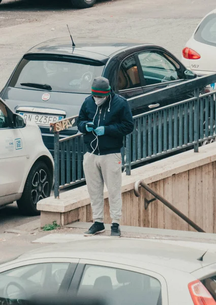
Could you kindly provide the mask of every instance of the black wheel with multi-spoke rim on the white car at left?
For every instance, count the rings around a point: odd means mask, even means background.
[[[50,196],[51,181],[52,175],[46,163],[36,162],[28,173],[22,197],[17,200],[22,215],[40,215],[40,211],[37,210],[37,202]]]

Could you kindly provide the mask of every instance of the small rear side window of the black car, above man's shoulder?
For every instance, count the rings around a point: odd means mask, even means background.
[[[140,87],[140,77],[134,55],[127,57],[118,72],[118,90]]]

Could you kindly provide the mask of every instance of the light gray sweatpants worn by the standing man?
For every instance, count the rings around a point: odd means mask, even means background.
[[[93,219],[104,219],[104,183],[108,190],[112,223],[119,223],[121,217],[121,154],[98,156],[86,153],[83,168],[90,196]]]

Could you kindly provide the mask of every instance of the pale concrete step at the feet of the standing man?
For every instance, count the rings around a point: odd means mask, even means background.
[[[108,224],[105,224],[106,232],[104,233],[91,237],[83,236],[83,232],[86,231],[90,226],[91,223],[75,222],[65,226],[65,228],[69,229],[69,231],[66,233],[60,229],[59,233],[53,232],[32,242],[36,244],[50,244],[101,238],[106,240],[107,238],[110,238],[110,225]],[[121,226],[121,236],[121,238],[126,239],[148,239],[152,242],[163,242],[170,245],[199,249],[203,250],[203,252],[208,251],[216,253],[216,234],[211,233]]]

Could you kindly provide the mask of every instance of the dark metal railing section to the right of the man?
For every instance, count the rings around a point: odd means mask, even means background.
[[[179,149],[194,146],[198,152],[199,143],[216,136],[215,106],[214,92],[195,90],[194,98],[134,116],[135,128],[126,141],[127,174],[135,164]]]

